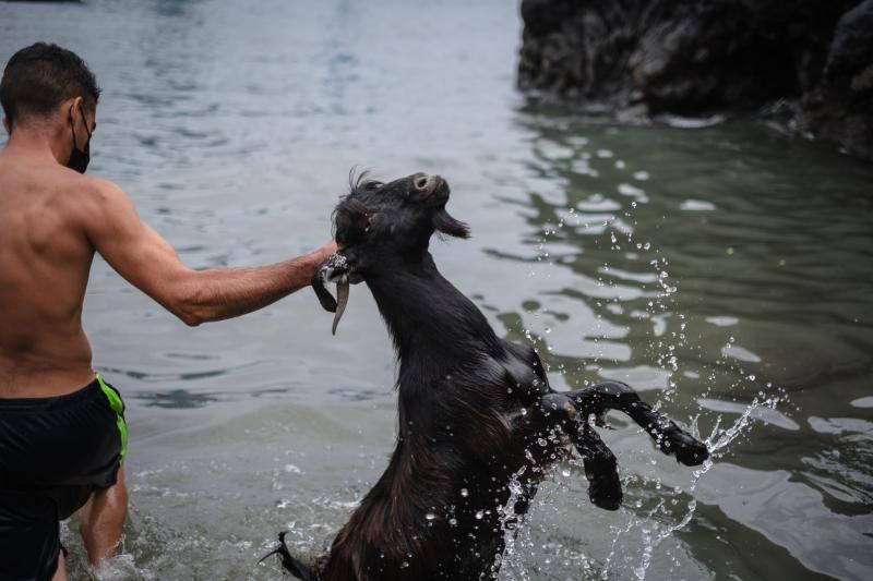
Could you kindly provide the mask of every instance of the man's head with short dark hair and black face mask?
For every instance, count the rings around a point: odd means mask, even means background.
[[[3,125],[12,135],[16,128],[40,126],[62,136],[68,164],[80,171],[87,156],[100,88],[85,61],[74,52],[46,43],[19,50],[9,59],[0,81]],[[76,153],[77,152],[77,153]],[[87,162],[84,162],[87,165]]]

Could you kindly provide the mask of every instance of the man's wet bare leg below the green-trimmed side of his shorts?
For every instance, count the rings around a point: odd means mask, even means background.
[[[116,483],[95,492],[79,509],[79,532],[88,552],[92,566],[113,557],[121,544],[124,517],[128,512],[128,487],[124,484],[124,467],[118,468]]]

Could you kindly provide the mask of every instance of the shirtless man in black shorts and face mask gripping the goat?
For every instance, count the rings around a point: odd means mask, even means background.
[[[94,253],[188,325],[235,317],[309,283],[334,252],[191,270],[115,183],[84,175],[99,88],[38,43],[0,82],[0,581],[67,579],[59,520],[77,511],[88,560],[112,556],[127,511],[127,425],[94,372],[82,302]],[[83,387],[84,386],[84,387]]]

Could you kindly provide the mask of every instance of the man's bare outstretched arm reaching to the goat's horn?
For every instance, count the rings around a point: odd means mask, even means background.
[[[96,193],[83,215],[92,244],[119,275],[187,325],[243,315],[308,286],[315,267],[336,250],[330,241],[268,266],[193,270],[140,219],[121,189],[103,180],[95,183]]]

